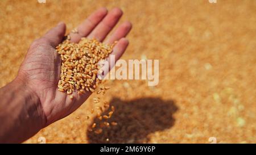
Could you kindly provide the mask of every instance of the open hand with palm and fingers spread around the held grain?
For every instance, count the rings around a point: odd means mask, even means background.
[[[81,37],[103,41],[121,16],[122,11],[118,8],[110,12],[105,8],[98,9],[77,27],[78,33],[70,34],[71,41],[77,43]],[[120,58],[125,52],[129,42],[124,37],[130,30],[131,23],[124,22],[105,41],[108,44],[118,41],[112,52],[112,55],[115,55],[115,59]],[[49,30],[46,35],[35,40],[28,49],[18,73],[18,77],[25,78],[28,87],[40,99],[46,118],[46,126],[71,114],[90,95],[87,91],[83,95],[77,95],[75,91],[73,93],[74,98],[69,99],[67,93],[61,93],[57,90],[61,60],[59,54],[55,51],[55,47],[61,43],[64,35],[65,24],[59,23]]]

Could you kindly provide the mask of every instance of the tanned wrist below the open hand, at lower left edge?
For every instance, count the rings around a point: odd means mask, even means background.
[[[40,99],[24,79],[18,76],[0,89],[0,143],[21,143],[45,127]]]

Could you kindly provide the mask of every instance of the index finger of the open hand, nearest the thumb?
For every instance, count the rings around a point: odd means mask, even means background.
[[[93,12],[93,14],[91,14],[87,19],[84,20],[84,22],[82,22],[77,27],[78,33],[70,34],[71,41],[77,43],[81,39],[81,37],[87,36],[93,30],[93,28],[101,22],[106,14],[108,14],[108,10],[105,7],[102,7]]]

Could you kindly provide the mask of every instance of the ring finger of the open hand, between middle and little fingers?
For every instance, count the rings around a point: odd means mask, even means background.
[[[131,23],[124,22],[114,31],[114,33],[110,36],[110,38],[106,41],[107,44],[113,44],[114,41],[125,37],[131,30]]]

